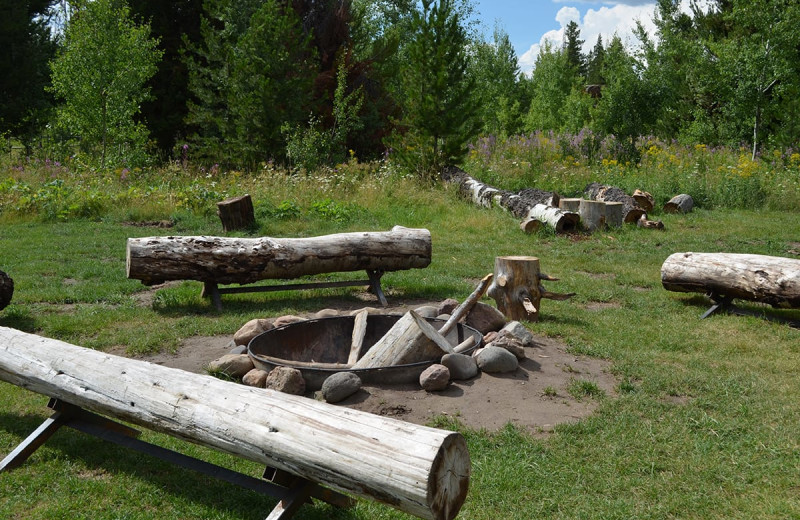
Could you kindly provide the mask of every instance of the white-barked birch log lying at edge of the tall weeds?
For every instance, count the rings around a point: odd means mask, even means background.
[[[558,210],[560,201],[558,193],[536,188],[526,188],[519,193],[500,190],[474,179],[455,166],[445,168],[442,172],[442,179],[457,185],[459,192],[478,206],[486,208],[500,206],[515,217],[522,219],[521,227],[527,232],[533,231],[536,227],[533,224],[525,224],[531,219],[543,222],[557,232],[573,231],[577,226],[577,215],[573,216],[569,212]],[[555,211],[537,209],[537,206],[552,208]]]

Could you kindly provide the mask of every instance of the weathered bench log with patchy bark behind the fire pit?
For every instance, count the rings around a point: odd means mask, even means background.
[[[311,238],[129,238],[126,264],[128,278],[155,285],[169,280],[247,284],[342,271],[423,268],[430,262],[430,231],[395,226],[387,232]]]

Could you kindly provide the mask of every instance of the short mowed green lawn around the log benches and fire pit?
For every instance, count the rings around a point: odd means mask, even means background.
[[[287,189],[272,197],[256,197],[258,229],[239,236],[430,229],[431,265],[384,277],[395,301],[462,299],[492,271],[494,257],[511,254],[539,257],[542,270],[560,278],[545,282],[548,288],[577,293],[565,302],[545,300],[541,321],[529,326],[576,354],[610,360],[617,392],[576,388],[599,401],[597,412],[547,437],[511,426],[471,431],[438,420],[436,426],[461,431],[469,444],[472,479],[459,518],[800,517],[800,330],[762,317],[699,320],[708,301],[663,290],[659,274],[667,256],[682,251],[797,258],[796,213],[698,210],[656,215],[666,231],[625,227],[556,236],[525,235],[500,210],[479,209],[451,189],[408,180],[377,189],[353,186],[331,197],[336,203],[327,218],[311,209],[326,199],[319,192]],[[295,201],[299,213],[280,214],[286,200]],[[152,214],[165,216],[158,211]],[[4,222],[0,269],[14,278],[16,292],[0,312],[0,325],[134,353],[174,349],[192,335],[232,334],[254,317],[319,310],[332,299],[357,301],[349,289],[226,295],[218,313],[200,298],[200,284],[184,282],[157,290],[152,304],[141,305],[138,298],[148,289],[125,279],[126,238],[223,234],[213,215],[166,216],[175,228],[133,227],[122,216]],[[363,276],[328,278],[351,275]],[[742,305],[800,319],[799,311]],[[0,383],[0,454],[48,415],[45,403],[44,396]],[[165,435],[145,438],[252,475],[261,471]],[[23,467],[0,476],[0,518],[257,519],[274,504],[66,430]],[[361,500],[350,510],[307,505],[296,518],[409,517]]]

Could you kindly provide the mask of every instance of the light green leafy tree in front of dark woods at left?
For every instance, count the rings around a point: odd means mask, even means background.
[[[52,63],[52,88],[63,100],[57,123],[85,149],[99,148],[101,168],[110,149],[114,159],[142,158],[147,131],[134,118],[161,58],[149,34],[147,25],[131,20],[123,1],[80,3]]]

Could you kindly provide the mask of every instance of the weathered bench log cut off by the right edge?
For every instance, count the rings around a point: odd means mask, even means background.
[[[733,253],[675,253],[661,266],[668,291],[711,293],[800,308],[800,260]]]

